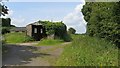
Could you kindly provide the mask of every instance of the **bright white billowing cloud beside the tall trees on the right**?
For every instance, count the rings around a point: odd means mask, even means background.
[[[86,21],[81,12],[83,4],[79,4],[75,7],[74,11],[66,15],[63,19],[63,22],[67,25],[68,28],[73,27],[76,29],[76,33],[85,33],[86,32]]]

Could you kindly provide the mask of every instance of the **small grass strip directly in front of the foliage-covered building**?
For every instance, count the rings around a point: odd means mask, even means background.
[[[45,45],[45,46],[49,46],[49,45],[58,45],[63,43],[63,40],[59,40],[59,39],[42,39],[37,45],[41,46],[41,45]]]

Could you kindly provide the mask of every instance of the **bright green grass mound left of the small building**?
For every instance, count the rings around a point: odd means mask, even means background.
[[[26,36],[25,33],[8,33],[5,34],[5,41],[6,43],[23,43],[23,42],[29,42],[29,41],[33,41],[34,39]]]

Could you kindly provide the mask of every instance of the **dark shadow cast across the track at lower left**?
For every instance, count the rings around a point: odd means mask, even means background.
[[[3,66],[28,64],[30,63],[31,58],[50,56],[50,54],[33,52],[40,50],[40,47],[13,44],[6,46],[8,48],[8,52],[3,55]]]

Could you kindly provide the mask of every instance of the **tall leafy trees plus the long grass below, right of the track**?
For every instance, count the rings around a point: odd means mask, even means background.
[[[86,35],[73,35],[56,62],[58,66],[118,66],[120,2],[87,2],[82,13]]]

